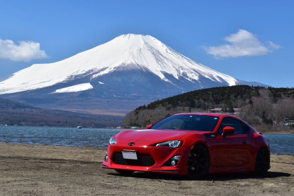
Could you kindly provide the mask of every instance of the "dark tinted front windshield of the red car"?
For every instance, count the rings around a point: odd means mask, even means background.
[[[151,129],[213,131],[218,120],[217,116],[210,115],[173,115],[159,121]]]

